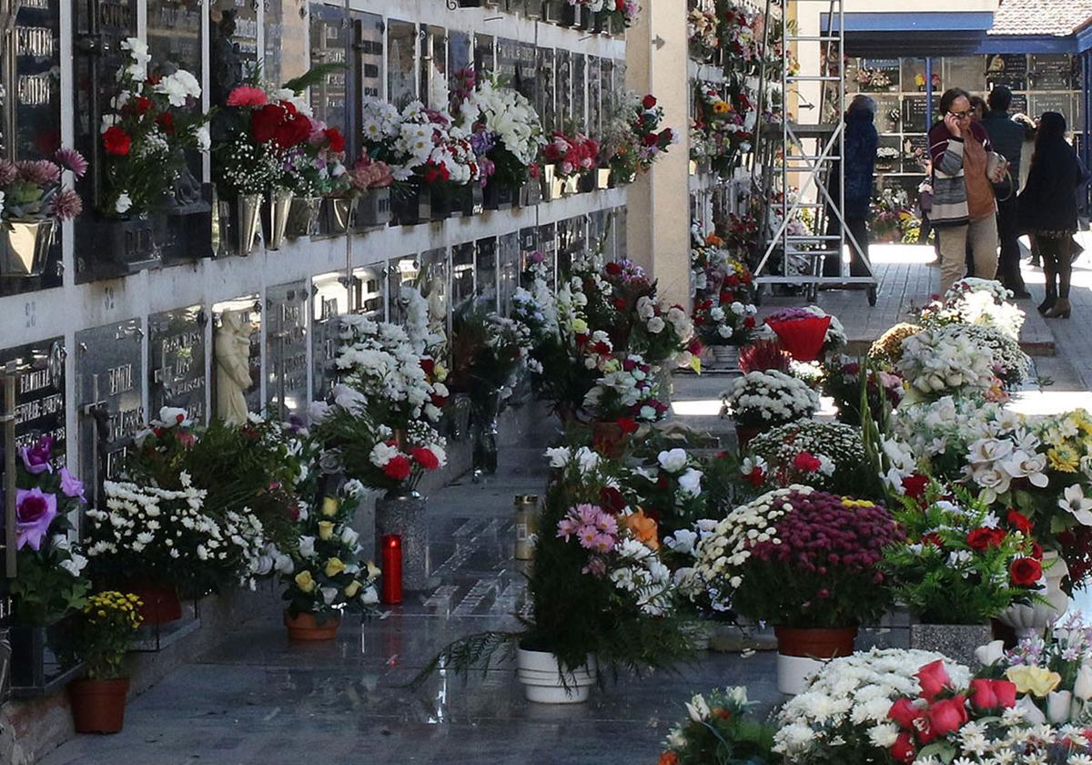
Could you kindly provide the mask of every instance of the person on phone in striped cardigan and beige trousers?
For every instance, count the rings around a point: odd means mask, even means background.
[[[966,272],[966,247],[975,274],[997,273],[997,204],[987,177],[989,136],[971,119],[971,96],[960,87],[940,96],[943,119],[929,131],[933,156],[933,226],[940,239],[940,292]]]

